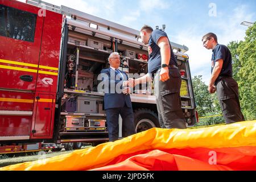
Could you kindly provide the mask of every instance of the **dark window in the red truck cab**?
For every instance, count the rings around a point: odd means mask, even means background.
[[[0,36],[34,42],[36,14],[0,5]]]

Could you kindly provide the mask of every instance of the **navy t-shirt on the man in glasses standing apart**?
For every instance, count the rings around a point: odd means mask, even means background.
[[[229,48],[224,45],[217,44],[212,52],[212,72],[216,61],[222,59],[223,65],[219,76],[232,76],[232,56]]]

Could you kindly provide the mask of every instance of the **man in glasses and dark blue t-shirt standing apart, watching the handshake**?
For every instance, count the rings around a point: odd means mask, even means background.
[[[238,84],[232,77],[232,56],[228,47],[218,44],[217,36],[213,33],[204,35],[202,42],[205,48],[212,49],[213,52],[209,93],[217,90],[218,101],[227,124],[245,121],[241,112]]]

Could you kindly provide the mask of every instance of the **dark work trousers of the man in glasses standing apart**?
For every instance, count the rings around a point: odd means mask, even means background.
[[[226,124],[245,121],[241,112],[236,80],[232,77],[221,77],[216,83],[218,101]]]

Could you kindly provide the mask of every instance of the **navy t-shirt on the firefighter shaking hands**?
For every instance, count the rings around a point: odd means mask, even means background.
[[[152,31],[152,34],[150,36],[150,40],[148,42],[148,73],[156,73],[158,69],[161,68],[161,53],[160,53],[160,47],[158,46],[158,39],[162,36],[167,36],[166,32],[162,30],[154,30]],[[171,47],[171,44],[170,44]],[[174,52],[172,51],[171,47],[171,59],[169,65],[176,65],[177,61],[174,55]]]

